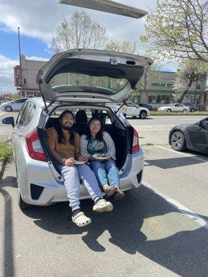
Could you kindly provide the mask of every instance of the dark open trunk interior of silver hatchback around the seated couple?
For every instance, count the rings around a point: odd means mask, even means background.
[[[73,129],[74,131],[78,132],[80,136],[82,134],[85,134],[87,128],[87,121],[89,121],[89,119],[92,116],[96,115],[101,118],[103,122],[104,131],[108,132],[110,136],[112,136],[112,139],[115,144],[116,166],[119,168],[120,172],[125,172],[126,159],[128,157],[128,154],[131,154],[132,149],[133,128],[131,126],[124,126],[123,123],[121,123],[121,120],[119,120],[118,116],[115,116],[113,111],[107,107],[86,107],[86,105],[57,106],[55,107],[55,109],[51,110],[51,112],[47,116],[46,123],[44,125],[42,147],[46,154],[47,161],[53,163],[55,170],[60,174],[58,166],[51,157],[49,148],[46,144],[46,129],[48,129],[49,127],[55,127],[55,125],[59,124],[58,116],[65,109],[73,111],[73,114],[75,116],[75,123],[73,124]]]

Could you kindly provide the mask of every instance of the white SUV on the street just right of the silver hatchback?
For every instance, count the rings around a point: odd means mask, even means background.
[[[125,109],[123,110],[123,114],[125,116],[132,116],[132,118],[137,118],[137,116],[139,116],[139,118],[141,119],[145,119],[147,116],[150,115],[150,110],[144,107],[139,107],[139,105],[127,101],[125,102]],[[117,105],[117,107],[119,108],[119,105]]]

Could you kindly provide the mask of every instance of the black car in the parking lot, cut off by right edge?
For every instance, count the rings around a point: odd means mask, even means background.
[[[169,143],[176,151],[189,149],[208,154],[208,117],[195,124],[173,127],[169,132]]]

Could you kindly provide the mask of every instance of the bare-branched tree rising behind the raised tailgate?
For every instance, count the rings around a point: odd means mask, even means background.
[[[105,28],[84,11],[78,11],[73,12],[69,20],[62,20],[52,45],[55,53],[73,48],[101,49],[104,48],[105,40]]]

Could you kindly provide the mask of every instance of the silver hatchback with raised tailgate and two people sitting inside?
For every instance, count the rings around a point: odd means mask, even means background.
[[[112,65],[112,59],[116,64]],[[121,102],[128,97],[152,63],[152,60],[137,55],[73,49],[53,55],[40,69],[37,82],[45,104],[42,98],[30,98],[19,111],[16,122],[13,117],[3,119],[3,123],[14,127],[12,151],[20,208],[67,201],[64,180],[46,143],[46,129],[58,123],[58,115],[65,109],[70,109],[76,115],[74,129],[80,135],[86,130],[88,118],[95,114],[101,117],[105,131],[112,136],[116,146],[121,190],[140,186],[144,154],[139,146],[138,133],[128,120],[119,112],[115,113],[107,103]],[[65,85],[64,76],[68,74],[71,84]],[[106,82],[101,76],[105,76]],[[52,78],[59,78],[63,84],[52,87]],[[77,85],[77,78],[83,80],[83,84],[80,82]],[[92,78],[95,86],[92,86]],[[117,83],[119,80],[122,80],[122,87],[114,91],[105,87],[105,84],[107,86],[109,82]],[[85,111],[84,118],[78,116],[80,110]],[[87,190],[82,186],[80,198],[88,197]]]

